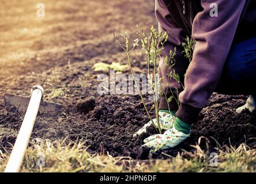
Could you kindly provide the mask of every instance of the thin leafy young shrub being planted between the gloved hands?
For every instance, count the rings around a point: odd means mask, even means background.
[[[157,68],[159,66],[161,52],[164,49],[164,43],[168,39],[168,33],[167,32],[158,32],[153,26],[150,26],[150,25],[148,25],[148,28],[149,28],[149,33],[145,33],[145,31],[143,29],[138,28],[138,30],[140,30],[140,32],[137,34],[140,37],[140,40],[135,39],[133,44],[130,43],[130,34],[131,33],[121,34],[121,36],[124,39],[123,44],[119,42],[119,40],[115,37],[115,34],[114,34],[114,37],[116,39],[116,43],[118,43],[120,45],[120,47],[126,52],[127,63],[129,64],[131,75],[133,76],[133,81],[135,83],[135,87],[137,88],[138,93],[140,94],[141,101],[142,101],[142,104],[144,105],[146,113],[147,113],[150,121],[152,121],[152,125],[155,127],[156,132],[161,133],[161,127],[160,127],[159,115],[158,115],[159,86],[161,86],[161,84],[160,84],[161,80],[159,79]],[[155,105],[155,113],[156,113],[156,121],[157,121],[158,129],[156,128],[155,124],[153,123],[152,117],[150,116],[150,113],[149,113],[148,109],[146,108],[144,97],[142,96],[142,93],[140,91],[140,88],[138,87],[137,81],[135,80],[133,66],[131,64],[130,54],[133,51],[133,49],[139,45],[139,42],[141,42],[142,50],[145,51],[145,53],[146,53],[146,58],[147,58],[147,63],[148,63],[149,83],[150,83],[150,87],[152,88],[152,93],[153,93],[153,100],[154,100],[154,105]],[[170,70],[171,70],[171,67],[175,63],[175,62],[173,62],[175,53],[176,53],[175,51],[174,52],[170,51],[170,54],[168,56],[166,56],[166,58],[165,58],[165,62],[171,63]],[[176,77],[178,79],[178,75],[176,75],[176,74],[172,75],[172,77]],[[165,97],[167,98],[167,94],[165,94]]]

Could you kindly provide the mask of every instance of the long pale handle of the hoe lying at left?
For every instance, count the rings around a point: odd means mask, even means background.
[[[25,151],[28,147],[28,141],[36,121],[36,116],[43,93],[44,90],[42,86],[33,86],[31,89],[31,99],[28,104],[28,109],[25,113],[20,131],[18,132],[12,154],[10,155],[9,161],[5,168],[5,173],[17,173],[20,171]]]

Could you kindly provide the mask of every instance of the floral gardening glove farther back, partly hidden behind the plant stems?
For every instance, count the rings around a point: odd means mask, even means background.
[[[175,120],[175,112],[170,112],[169,110],[159,110],[159,124],[161,129],[168,130],[172,128]],[[153,119],[153,123],[155,124],[156,128],[158,128],[156,119]],[[146,133],[146,130],[152,125],[152,121],[149,121],[145,124],[141,129],[133,134],[133,137],[139,136],[142,133]]]

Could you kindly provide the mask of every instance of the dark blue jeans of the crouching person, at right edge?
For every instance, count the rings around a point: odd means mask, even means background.
[[[256,97],[256,36],[232,45],[216,92]]]

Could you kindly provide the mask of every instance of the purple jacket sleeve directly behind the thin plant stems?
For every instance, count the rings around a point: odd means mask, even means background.
[[[161,1],[160,1],[161,2]],[[156,18],[159,22],[159,31],[165,31],[168,32],[168,41],[164,44],[164,50],[161,52],[161,59],[159,63],[159,76],[161,78],[161,90],[167,91],[170,93],[170,89],[172,89],[173,93],[175,93],[175,90],[178,89],[179,91],[182,91],[182,86],[177,83],[174,79],[168,78],[168,72],[170,72],[170,69],[168,69],[167,64],[164,62],[165,56],[168,55],[170,50],[174,51],[174,48],[176,47],[176,55],[175,55],[175,66],[172,68],[172,70],[175,70],[176,73],[180,75],[182,78],[181,81],[184,80],[184,74],[187,70],[187,66],[189,64],[189,61],[183,56],[182,51],[182,42],[185,41],[186,33],[183,31],[182,28],[179,28],[178,25],[176,25],[175,21],[172,19],[172,16],[167,8],[160,6],[159,1],[156,0]],[[169,94],[171,95],[171,94]],[[178,96],[176,95],[176,98]],[[178,104],[175,101],[172,101],[167,104],[166,99],[161,98],[160,99],[160,109],[168,109],[171,108],[171,110],[177,111],[178,110]]]

